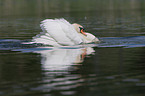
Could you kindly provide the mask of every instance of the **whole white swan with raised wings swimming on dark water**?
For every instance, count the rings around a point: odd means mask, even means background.
[[[72,46],[99,42],[94,35],[84,32],[83,26],[70,24],[65,19],[46,19],[41,22],[40,27],[43,32],[33,37],[34,43]]]

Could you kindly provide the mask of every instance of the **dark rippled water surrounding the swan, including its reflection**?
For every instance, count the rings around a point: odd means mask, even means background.
[[[144,4],[0,0],[0,96],[144,96]],[[27,44],[46,18],[77,22],[101,43]]]

